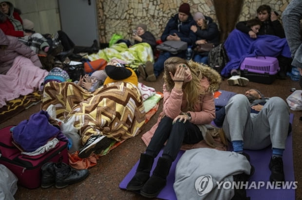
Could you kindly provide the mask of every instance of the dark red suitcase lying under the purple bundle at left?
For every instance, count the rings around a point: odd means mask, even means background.
[[[0,164],[9,168],[18,178],[18,184],[29,189],[41,184],[41,167],[48,162],[69,163],[67,143],[60,141],[57,146],[43,154],[29,156],[21,154],[12,142],[10,128],[0,129]]]

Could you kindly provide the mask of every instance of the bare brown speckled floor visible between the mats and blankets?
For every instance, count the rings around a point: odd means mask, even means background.
[[[145,82],[139,78],[139,82],[147,86],[154,87],[157,91],[162,91],[163,80],[159,77],[157,82]],[[236,93],[244,93],[249,88],[260,90],[265,97],[279,96],[284,100],[290,95],[291,88],[301,89],[298,82],[293,82],[289,78],[286,80],[275,80],[272,84],[248,83],[245,87],[228,86],[227,80],[223,81],[222,90],[232,91]],[[119,147],[112,150],[98,160],[95,167],[90,168],[90,175],[87,179],[80,183],[69,185],[63,189],[55,187],[42,189],[26,189],[19,186],[15,195],[16,200],[144,200],[142,196],[133,192],[125,191],[119,188],[119,183],[124,179],[126,174],[131,170],[139,159],[140,153],[146,148],[141,140],[141,135],[148,131],[157,120],[158,114],[162,110],[162,101],[158,112],[144,126],[144,130],[134,138],[126,140]],[[39,111],[39,105],[35,105],[30,109],[23,111],[18,116],[8,119],[0,124],[0,128],[7,125],[16,125],[24,119],[28,119],[30,115]],[[295,180],[298,181],[296,189],[296,200],[302,199],[302,188],[299,183],[302,183],[302,121],[299,117],[302,116],[301,111],[291,111],[294,114],[293,121],[293,150],[294,150],[294,170]],[[256,169],[257,170],[257,169]],[[261,198],[259,197],[259,200]]]

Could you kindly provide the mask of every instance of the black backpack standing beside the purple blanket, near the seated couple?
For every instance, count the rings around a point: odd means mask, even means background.
[[[226,66],[228,61],[227,51],[223,43],[214,47],[208,53],[208,65],[219,73]]]

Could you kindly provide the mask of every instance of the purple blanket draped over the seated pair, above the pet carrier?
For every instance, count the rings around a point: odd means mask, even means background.
[[[237,29],[233,30],[224,43],[229,62],[221,71],[222,76],[229,76],[232,69],[239,69],[245,57],[282,55],[290,58],[286,38],[275,35],[258,35],[256,39]]]

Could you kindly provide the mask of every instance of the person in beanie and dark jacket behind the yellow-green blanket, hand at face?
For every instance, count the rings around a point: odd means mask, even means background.
[[[134,44],[138,44],[141,42],[146,42],[150,44],[152,50],[155,50],[156,40],[154,35],[147,31],[146,24],[138,24],[135,28],[136,32],[132,34],[132,39],[134,39]]]

